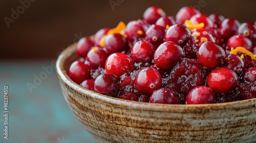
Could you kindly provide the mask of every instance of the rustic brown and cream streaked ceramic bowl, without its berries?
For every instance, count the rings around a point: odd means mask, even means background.
[[[75,46],[60,54],[56,71],[70,108],[97,142],[256,142],[256,99],[164,105],[104,96],[68,77]]]

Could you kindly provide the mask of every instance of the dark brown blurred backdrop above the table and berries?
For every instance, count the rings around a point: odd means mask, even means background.
[[[22,0],[28,1],[28,0]],[[32,0],[31,0],[32,1]],[[36,0],[30,3],[24,13],[10,23],[4,17],[10,17],[14,9],[22,4],[19,1],[0,2],[0,60],[6,59],[56,59],[59,51],[82,36],[93,35],[103,27],[115,27],[119,21],[125,23],[142,18],[147,7],[159,6],[166,14],[176,15],[183,6],[196,6],[202,13],[221,13],[240,22],[256,20],[256,1],[129,1],[121,2],[114,11],[106,1],[67,1]],[[202,6],[202,5],[201,5]]]

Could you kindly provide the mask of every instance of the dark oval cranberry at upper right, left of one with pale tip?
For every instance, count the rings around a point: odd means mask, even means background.
[[[240,23],[238,20],[233,18],[226,18],[221,23],[221,27],[220,27],[221,37],[225,40],[228,40],[230,37],[236,34],[236,31],[238,30],[239,26],[240,26]]]

